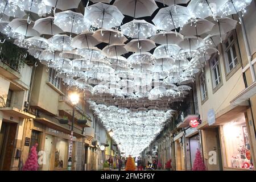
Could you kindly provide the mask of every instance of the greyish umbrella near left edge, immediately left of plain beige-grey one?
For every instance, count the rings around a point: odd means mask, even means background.
[[[32,29],[34,27],[34,22],[30,24],[27,23],[27,19],[13,19],[9,26],[13,29],[13,31],[24,35],[25,37],[31,36],[39,36],[39,32]]]

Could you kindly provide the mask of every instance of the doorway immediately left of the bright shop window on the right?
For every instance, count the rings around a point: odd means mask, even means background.
[[[221,160],[221,147],[220,147],[220,135],[218,131],[218,127],[214,129],[205,130],[205,143],[207,143],[207,167],[209,171],[222,171],[222,160]],[[216,152],[216,163],[209,163],[209,152]],[[204,152],[204,153],[205,153]]]

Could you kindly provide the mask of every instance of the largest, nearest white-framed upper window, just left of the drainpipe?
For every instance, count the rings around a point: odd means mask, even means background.
[[[224,42],[224,53],[226,57],[226,71],[229,73],[238,64],[236,42],[234,39],[234,34],[230,34]]]

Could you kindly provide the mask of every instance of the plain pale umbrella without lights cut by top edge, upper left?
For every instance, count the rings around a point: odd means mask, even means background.
[[[43,0],[47,6],[54,7],[55,9],[68,10],[76,9],[79,6],[81,0]],[[55,13],[54,9],[54,13]]]

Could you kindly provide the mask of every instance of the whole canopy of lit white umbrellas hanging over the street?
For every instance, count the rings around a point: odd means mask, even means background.
[[[89,92],[106,129],[127,155],[138,155],[236,28],[230,15],[246,13],[251,0],[156,2],[0,0],[0,32],[56,69],[64,84]]]

